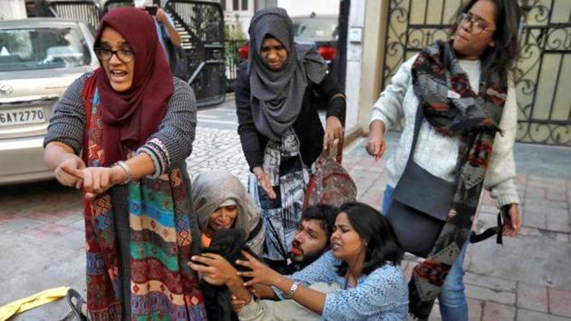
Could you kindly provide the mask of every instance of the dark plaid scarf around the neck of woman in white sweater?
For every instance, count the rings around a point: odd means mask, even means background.
[[[442,134],[460,135],[457,189],[450,214],[431,254],[414,268],[410,312],[428,318],[452,264],[469,237],[504,103],[507,81],[492,74],[480,82],[479,94],[469,86],[450,43],[436,42],[412,65],[412,84],[426,120]]]

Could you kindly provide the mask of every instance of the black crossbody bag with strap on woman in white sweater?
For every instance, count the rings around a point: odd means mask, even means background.
[[[421,130],[421,121],[422,111],[419,106],[409,160],[401,180],[392,192],[391,208],[386,214],[402,249],[426,258],[446,222],[456,183],[442,180],[414,162],[412,156]]]

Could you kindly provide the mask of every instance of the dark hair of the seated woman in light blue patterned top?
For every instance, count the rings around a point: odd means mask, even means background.
[[[381,268],[387,262],[394,265],[401,264],[402,248],[391,223],[378,210],[360,202],[344,203],[339,210],[339,213],[343,212],[347,215],[353,229],[367,244],[363,275]],[[337,273],[344,277],[347,268],[347,263],[343,262],[337,267]]]

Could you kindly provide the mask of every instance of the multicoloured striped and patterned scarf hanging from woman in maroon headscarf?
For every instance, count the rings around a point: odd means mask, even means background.
[[[94,77],[83,87],[87,115],[83,160],[101,166],[102,105]],[[129,185],[130,271],[121,275],[111,195],[84,201],[87,308],[92,321],[121,320],[123,277],[131,280],[132,320],[206,320],[198,277],[187,266],[198,235],[191,233],[189,198],[180,170]]]

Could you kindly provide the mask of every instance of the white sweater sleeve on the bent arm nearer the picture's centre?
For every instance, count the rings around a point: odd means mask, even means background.
[[[416,55],[402,63],[399,71],[392,76],[391,84],[381,92],[381,96],[373,105],[371,122],[384,122],[386,130],[395,127],[400,122],[404,116],[402,101],[411,85],[411,66],[414,60],[416,60]]]

